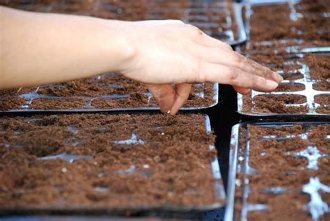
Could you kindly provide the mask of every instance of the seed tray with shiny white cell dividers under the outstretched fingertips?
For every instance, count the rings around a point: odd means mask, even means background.
[[[282,75],[276,91],[237,95],[240,114],[246,116],[329,117],[329,53],[250,55]]]

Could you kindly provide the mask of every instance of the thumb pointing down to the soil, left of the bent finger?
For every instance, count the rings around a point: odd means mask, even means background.
[[[175,91],[171,84],[148,84],[147,89],[156,99],[162,112],[171,110],[175,102]]]

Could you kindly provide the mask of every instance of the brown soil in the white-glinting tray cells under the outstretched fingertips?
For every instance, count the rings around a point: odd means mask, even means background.
[[[250,59],[271,68],[274,71],[282,71],[281,75],[290,83],[283,83],[278,86],[275,92],[284,92],[284,95],[263,94],[251,98],[251,94],[243,96],[242,112],[252,113],[269,113],[269,114],[306,114],[309,112],[306,105],[288,106],[288,104],[301,104],[306,102],[306,97],[301,95],[290,94],[290,91],[303,91],[304,84],[295,83],[295,80],[305,77],[306,81],[319,81],[313,84],[313,89],[319,91],[329,91],[330,79],[330,56],[324,54],[304,54],[301,57],[292,57],[286,59],[288,54],[253,54],[249,55]],[[283,64],[285,62],[294,62],[295,64]],[[304,63],[309,68],[309,75],[305,76],[298,70],[302,68],[296,62]],[[304,93],[304,92],[303,92]],[[308,92],[306,92],[308,96]],[[323,97],[322,97],[323,98]],[[320,99],[320,98],[319,98]],[[325,99],[325,98],[324,98]],[[315,102],[317,102],[315,100]],[[321,107],[315,109],[320,114],[329,114],[329,100],[325,99],[320,102]]]

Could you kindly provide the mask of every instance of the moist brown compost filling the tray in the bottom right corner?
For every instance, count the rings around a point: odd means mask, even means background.
[[[240,129],[238,159],[242,159],[238,160],[235,182],[234,220],[241,220],[242,208],[246,204],[267,206],[263,209],[251,207],[246,214],[247,220],[313,220],[306,207],[311,203],[311,195],[303,187],[311,178],[318,178],[330,188],[330,140],[327,139],[330,125],[247,125],[247,129]],[[322,155],[315,165],[307,158],[294,155],[311,147],[316,147]],[[248,154],[251,169],[245,166]],[[249,194],[245,204],[246,186]],[[322,191],[319,190],[320,197],[329,206],[329,191]],[[327,220],[327,217],[329,211],[320,215],[318,220]]]

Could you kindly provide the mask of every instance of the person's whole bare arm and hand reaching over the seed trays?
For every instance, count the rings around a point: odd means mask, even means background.
[[[0,22],[0,89],[117,72],[146,84],[162,112],[176,114],[192,83],[249,93],[274,91],[283,80],[178,20],[123,22],[0,6]]]

